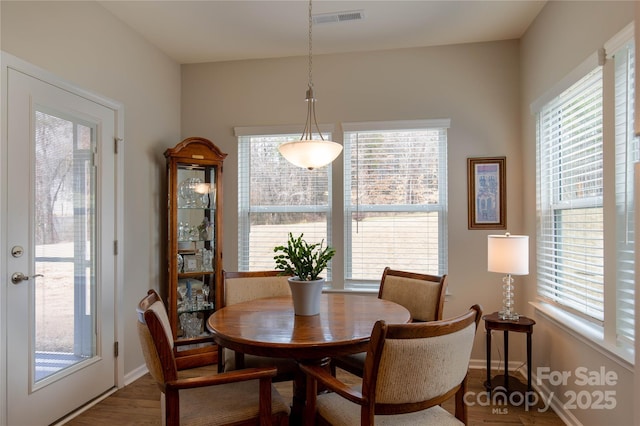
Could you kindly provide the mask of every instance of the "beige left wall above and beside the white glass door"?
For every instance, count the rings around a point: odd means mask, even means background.
[[[180,140],[180,66],[95,2],[0,2],[1,48],[124,105],[124,372],[144,364],[135,307],[163,276],[162,153]]]

